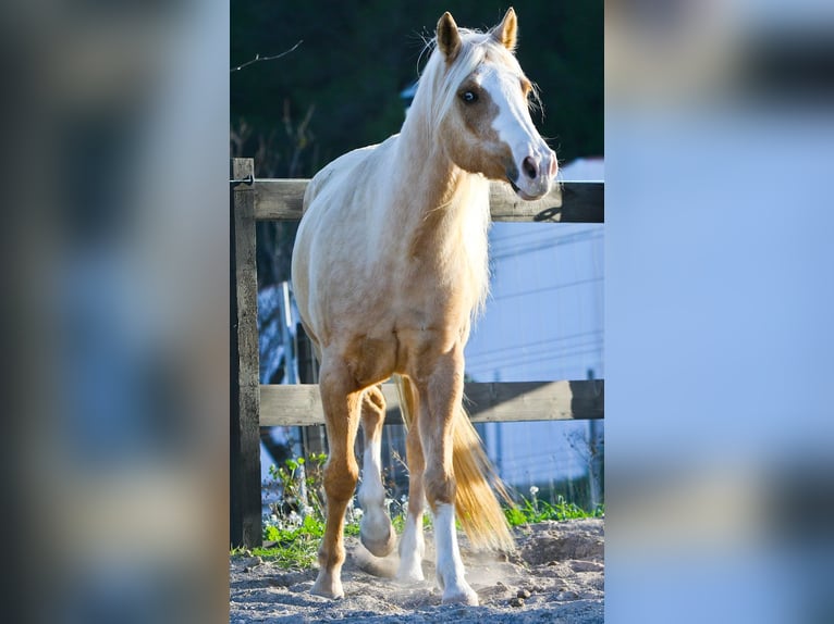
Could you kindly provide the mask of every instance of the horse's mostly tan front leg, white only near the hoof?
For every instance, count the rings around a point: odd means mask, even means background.
[[[319,390],[330,447],[323,471],[328,519],[319,548],[319,574],[310,591],[327,598],[342,598],[344,516],[359,478],[353,446],[359,428],[361,392],[356,390],[346,364],[328,358],[321,366]]]

